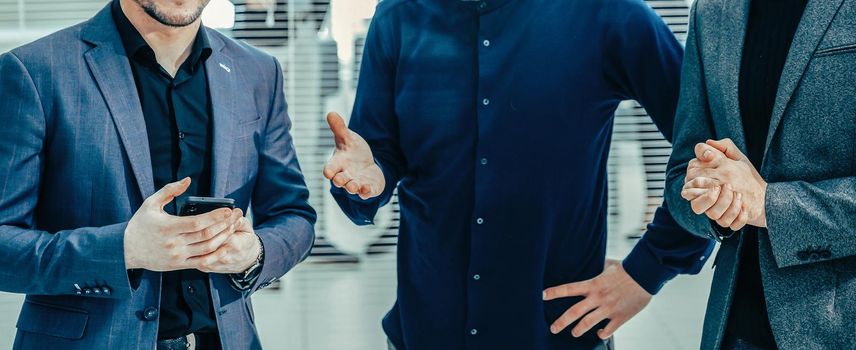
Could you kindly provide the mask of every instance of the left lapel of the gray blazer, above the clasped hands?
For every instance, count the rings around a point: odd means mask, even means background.
[[[749,21],[749,1],[739,0],[734,6],[721,6],[720,23],[723,28],[719,35],[718,48],[724,79],[720,84],[720,96],[725,106],[726,128],[732,141],[740,149],[746,149],[746,137],[743,132],[743,119],[740,114],[738,89],[740,85],[740,64],[743,60],[743,44],[746,39],[746,25]]]

